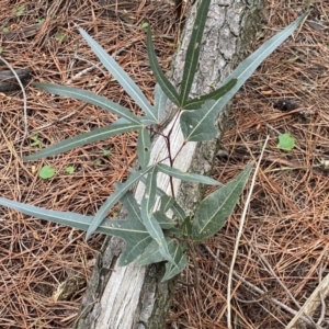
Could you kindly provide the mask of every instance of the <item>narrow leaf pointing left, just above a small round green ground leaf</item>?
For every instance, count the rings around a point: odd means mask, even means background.
[[[123,120],[118,120],[106,127],[97,128],[92,132],[78,135],[76,137],[68,138],[52,146],[48,146],[47,148],[44,148],[31,156],[24,157],[23,160],[31,161],[49,156],[56,156],[93,141],[103,140],[127,132],[138,131],[141,127],[143,126],[140,124],[126,123]]]

